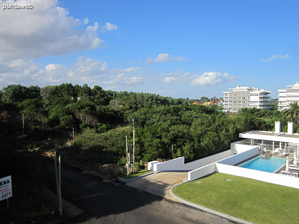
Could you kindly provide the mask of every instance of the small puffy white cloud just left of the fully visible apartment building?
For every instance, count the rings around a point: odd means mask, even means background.
[[[228,73],[205,72],[191,81],[191,86],[212,86],[232,78]]]

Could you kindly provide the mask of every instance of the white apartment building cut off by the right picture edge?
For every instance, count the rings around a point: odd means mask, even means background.
[[[278,97],[279,111],[284,111],[291,103],[299,103],[299,83],[287,86],[286,89],[278,89]]]

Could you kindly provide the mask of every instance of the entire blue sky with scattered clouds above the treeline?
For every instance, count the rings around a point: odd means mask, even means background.
[[[200,99],[243,85],[278,98],[296,82],[298,0],[0,0],[0,89]]]

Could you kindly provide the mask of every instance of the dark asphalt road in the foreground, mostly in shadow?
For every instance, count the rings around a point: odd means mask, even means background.
[[[47,169],[55,189],[53,165]],[[119,182],[104,182],[81,170],[62,167],[62,197],[85,211],[68,223],[78,224],[231,224],[228,220],[174,203]]]

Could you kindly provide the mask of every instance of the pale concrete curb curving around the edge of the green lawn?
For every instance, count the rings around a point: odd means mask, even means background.
[[[225,218],[225,219],[228,219],[228,220],[231,220],[231,221],[234,221],[234,222],[238,222],[238,223],[241,223],[241,224],[253,224],[253,223],[250,223],[250,222],[248,222],[248,221],[241,220],[241,219],[239,219],[239,218],[236,218],[236,217],[233,217],[233,216],[229,216],[229,215],[227,215],[227,214],[220,213],[220,212],[218,212],[218,211],[215,211],[215,210],[212,210],[212,209],[209,209],[209,208],[206,208],[206,207],[203,207],[203,206],[194,204],[194,203],[192,203],[192,202],[188,202],[188,201],[186,201],[186,200],[184,200],[184,199],[181,199],[181,198],[177,197],[175,194],[173,194],[173,192],[172,192],[173,188],[175,188],[175,187],[177,187],[177,186],[180,186],[180,185],[182,185],[182,184],[185,184],[185,183],[187,183],[187,182],[183,182],[183,183],[180,183],[180,184],[178,184],[178,185],[175,185],[175,186],[173,186],[173,187],[170,189],[170,194],[171,194],[171,196],[172,196],[173,198],[179,200],[181,203],[186,204],[186,205],[188,205],[188,206],[192,206],[192,207],[194,207],[194,208],[196,208],[196,209],[199,209],[199,210],[202,210],[202,211],[205,211],[205,212],[208,212],[208,213],[212,213],[212,214],[214,214],[214,215],[223,217],[223,218]]]

